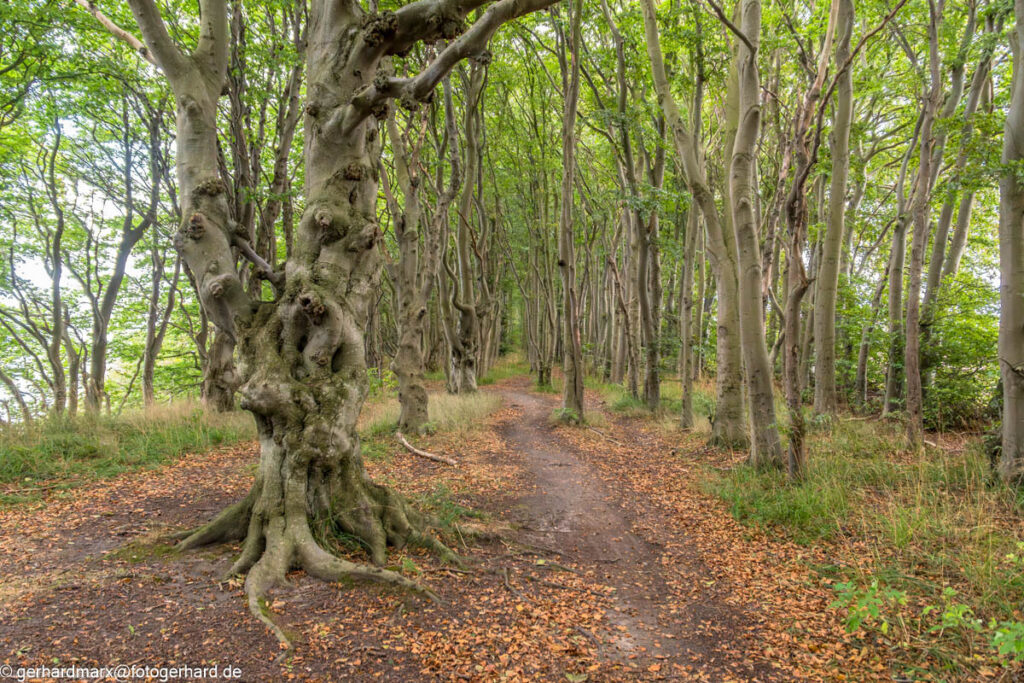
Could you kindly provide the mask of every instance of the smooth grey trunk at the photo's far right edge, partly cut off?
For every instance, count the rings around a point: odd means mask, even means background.
[[[999,375],[1002,379],[1004,481],[1024,483],[1024,183],[1015,169],[1024,161],[1024,0],[1014,3],[1010,34],[1013,78],[1002,136],[999,181]]]

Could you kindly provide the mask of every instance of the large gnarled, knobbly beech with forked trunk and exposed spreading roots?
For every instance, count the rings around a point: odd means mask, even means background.
[[[216,108],[229,47],[225,0],[200,1],[191,52],[172,40],[154,0],[130,0],[144,40],[138,49],[165,74],[177,103],[182,222],[175,246],[210,318],[236,341],[242,407],[255,417],[260,440],[248,496],[180,545],[244,539],[231,570],[248,573],[250,609],[282,642],[288,639],[262,597],[293,567],[324,580],[369,579],[429,593],[397,573],[335,557],[313,528],[360,539],[377,565],[388,544],[450,554],[428,535],[429,520],[370,480],[355,429],[367,394],[364,335],[381,270],[379,122],[392,99],[413,108],[429,98],[504,23],[552,2],[500,0],[468,28],[465,18],[485,0],[417,0],[379,13],[354,0],[310,2],[306,208],[284,269],[273,270],[231,221],[218,169]],[[441,40],[451,42],[415,76],[395,78],[383,68],[418,42]],[[272,300],[246,291],[236,253],[269,282]]]

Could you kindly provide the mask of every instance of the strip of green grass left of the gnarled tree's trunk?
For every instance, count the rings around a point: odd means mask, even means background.
[[[0,431],[0,483],[17,484],[3,502],[34,500],[63,488],[144,467],[186,453],[255,437],[247,413],[217,414],[181,401],[118,418],[51,418]]]

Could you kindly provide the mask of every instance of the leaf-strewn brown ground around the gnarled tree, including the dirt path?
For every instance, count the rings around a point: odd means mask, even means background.
[[[458,468],[397,444],[368,458],[440,517],[502,531],[460,548],[468,571],[392,553],[440,603],[296,572],[270,603],[298,634],[281,650],[223,581],[237,547],[166,541],[246,493],[247,444],[0,508],[0,664],[231,665],[245,681],[892,680],[829,607],[812,567],[838,561],[831,546],[741,526],[693,485],[739,454],[679,452],[590,392],[598,427],[580,428],[555,423],[558,398],[526,378],[484,390],[502,405],[481,424],[418,439]]]

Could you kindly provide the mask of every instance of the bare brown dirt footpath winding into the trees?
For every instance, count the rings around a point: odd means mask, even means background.
[[[743,678],[764,679],[766,672],[751,667],[743,654],[745,615],[701,590],[714,585],[714,578],[645,492],[602,476],[589,462],[601,454],[589,454],[563,436],[571,428],[552,422],[556,397],[531,392],[522,380],[496,390],[515,416],[500,424],[498,433],[511,462],[524,468],[534,484],[515,499],[506,518],[527,547],[553,549],[559,563],[613,589],[604,653],[624,666],[624,673],[641,676],[686,671],[726,680],[741,672]],[[639,507],[631,509],[627,501]]]

